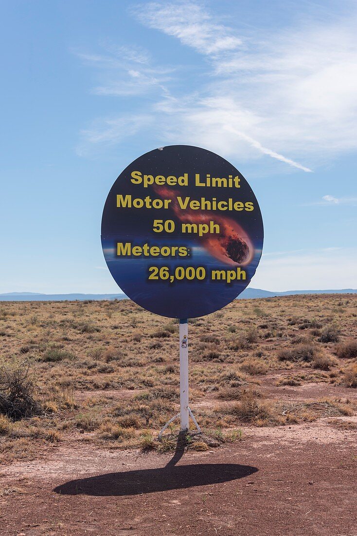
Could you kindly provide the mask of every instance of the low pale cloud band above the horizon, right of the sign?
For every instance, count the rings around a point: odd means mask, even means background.
[[[252,286],[277,292],[357,288],[356,264],[357,250],[352,248],[263,255]]]

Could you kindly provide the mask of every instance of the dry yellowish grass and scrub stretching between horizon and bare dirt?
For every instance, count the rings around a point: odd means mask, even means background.
[[[239,438],[242,425],[336,412],[306,403],[284,415],[264,393],[276,384],[299,391],[306,382],[355,387],[356,365],[345,360],[356,358],[356,314],[354,295],[286,296],[236,300],[190,321],[190,398],[200,425],[217,437]],[[0,457],[35,456],[68,438],[169,449],[158,447],[156,436],[178,413],[177,339],[177,321],[128,300],[0,304],[0,358],[6,370],[31,363],[29,392],[39,410],[17,416],[0,410]]]

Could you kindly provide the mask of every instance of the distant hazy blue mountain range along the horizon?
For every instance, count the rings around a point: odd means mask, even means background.
[[[343,288],[340,290],[326,291],[263,291],[261,288],[246,288],[238,299],[270,298],[274,296],[290,296],[294,294],[357,294],[355,288]],[[36,292],[7,292],[0,294],[0,301],[84,301],[84,300],[125,300],[124,293],[118,294],[40,294]]]

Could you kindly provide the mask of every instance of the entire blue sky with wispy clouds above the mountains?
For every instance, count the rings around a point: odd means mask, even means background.
[[[346,1],[4,2],[0,292],[116,292],[105,198],[174,144],[252,186],[251,286],[357,288],[356,21]]]

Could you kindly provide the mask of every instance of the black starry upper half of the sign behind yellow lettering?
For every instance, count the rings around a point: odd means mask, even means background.
[[[152,228],[153,220],[155,219],[173,219],[176,221],[176,229],[170,236],[181,235],[180,222],[175,217],[171,209],[124,209],[118,214],[116,196],[118,193],[123,195],[132,195],[133,199],[136,197],[145,198],[150,196],[153,199],[157,199],[160,196],[153,186],[144,188],[141,184],[133,184],[131,182],[131,173],[133,171],[140,171],[142,174],[153,175],[174,175],[179,177],[184,173],[188,173],[188,186],[179,187],[178,185],[172,187],[165,187],[173,191],[179,190],[181,197],[189,196],[192,199],[200,199],[206,197],[211,200],[212,197],[216,197],[217,200],[227,200],[233,198],[234,201],[241,201],[243,203],[252,201],[254,203],[254,210],[247,211],[212,211],[207,214],[218,214],[219,217],[232,218],[239,222],[239,224],[245,228],[249,225],[249,236],[262,235],[262,217],[253,190],[245,178],[224,158],[219,157],[217,154],[210,151],[201,150],[197,152],[195,147],[185,145],[172,145],[164,147],[162,151],[154,150],[142,155],[138,159],[134,160],[130,166],[128,166],[119,175],[116,182],[113,184],[107,201],[105,203],[105,218],[102,219],[102,235],[110,235],[115,229],[117,233],[118,223],[120,223],[120,233],[124,235],[130,235],[132,233],[140,232],[142,228],[146,228],[148,231]],[[195,173],[200,174],[201,180],[204,180],[207,173],[210,173],[211,177],[233,177],[238,175],[240,177],[240,188],[218,188],[218,187],[195,187]],[[172,203],[171,203],[172,204]],[[196,211],[199,215],[199,211]],[[206,211],[205,211],[206,212]],[[184,211],[183,211],[184,213]],[[152,233],[151,236],[155,236]],[[144,236],[148,236],[144,234]],[[187,237],[186,234],[183,235]]]

